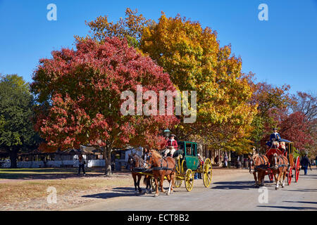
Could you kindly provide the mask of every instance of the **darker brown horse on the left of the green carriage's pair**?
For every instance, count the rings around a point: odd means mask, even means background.
[[[142,193],[142,189],[139,186],[139,182],[142,178],[142,174],[139,174],[139,171],[141,171],[142,169],[145,169],[144,160],[139,155],[134,153],[132,155],[129,154],[128,163],[130,165],[133,181],[135,182],[135,191],[137,192],[137,188],[138,188],[139,193]],[[149,176],[144,176],[143,183],[147,185],[147,188],[146,188],[147,192],[151,193],[151,182],[149,179],[150,179]]]

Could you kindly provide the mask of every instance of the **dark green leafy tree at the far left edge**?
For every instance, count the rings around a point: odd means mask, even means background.
[[[31,120],[33,103],[23,77],[0,76],[0,148],[10,155],[11,168],[17,167],[18,152],[32,150],[40,141]]]

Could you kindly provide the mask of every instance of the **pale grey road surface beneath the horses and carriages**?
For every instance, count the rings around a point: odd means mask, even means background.
[[[191,192],[187,192],[182,184],[173,195],[160,193],[158,198],[135,195],[130,187],[113,188],[112,191],[87,195],[85,198],[95,199],[93,203],[67,210],[317,210],[316,167],[306,176],[301,171],[298,183],[293,179],[290,186],[278,191],[267,176],[265,189],[261,192],[253,184],[253,176],[244,169],[235,176],[213,176],[209,188],[204,188],[202,180],[195,180]]]

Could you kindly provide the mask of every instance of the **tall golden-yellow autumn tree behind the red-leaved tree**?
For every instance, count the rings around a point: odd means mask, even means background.
[[[118,23],[101,17],[88,25],[99,41],[111,35],[135,37],[138,49],[161,65],[178,90],[197,91],[197,122],[170,129],[179,139],[212,139],[215,148],[245,138],[256,109],[249,104],[250,75],[242,73],[241,58],[232,56],[230,46],[220,47],[216,31],[198,22],[163,13],[155,23],[136,12],[127,9]]]

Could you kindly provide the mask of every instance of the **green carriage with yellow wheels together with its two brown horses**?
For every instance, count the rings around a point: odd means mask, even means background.
[[[153,190],[156,190],[156,195],[159,185],[158,181],[161,182],[161,191],[163,191],[162,179],[168,179],[168,181],[173,179],[173,181],[175,181],[175,188],[179,188],[182,185],[182,181],[184,181],[186,190],[192,191],[194,186],[194,174],[200,173],[204,181],[204,186],[208,188],[211,184],[211,160],[206,158],[203,162],[199,158],[197,143],[179,141],[178,147],[179,149],[174,153],[175,160],[171,160],[170,157],[163,158],[162,155],[159,155],[153,150],[149,152],[150,160],[147,160],[147,162],[144,162],[144,160],[137,155],[132,159],[133,162],[131,162],[131,164],[135,165],[135,173],[149,177],[151,187]],[[168,171],[168,174],[164,173],[159,176],[157,175],[159,171]],[[170,177],[170,172],[173,174],[173,178]],[[173,186],[170,185],[170,188],[172,188],[173,191]],[[170,193],[170,188],[168,193]]]

